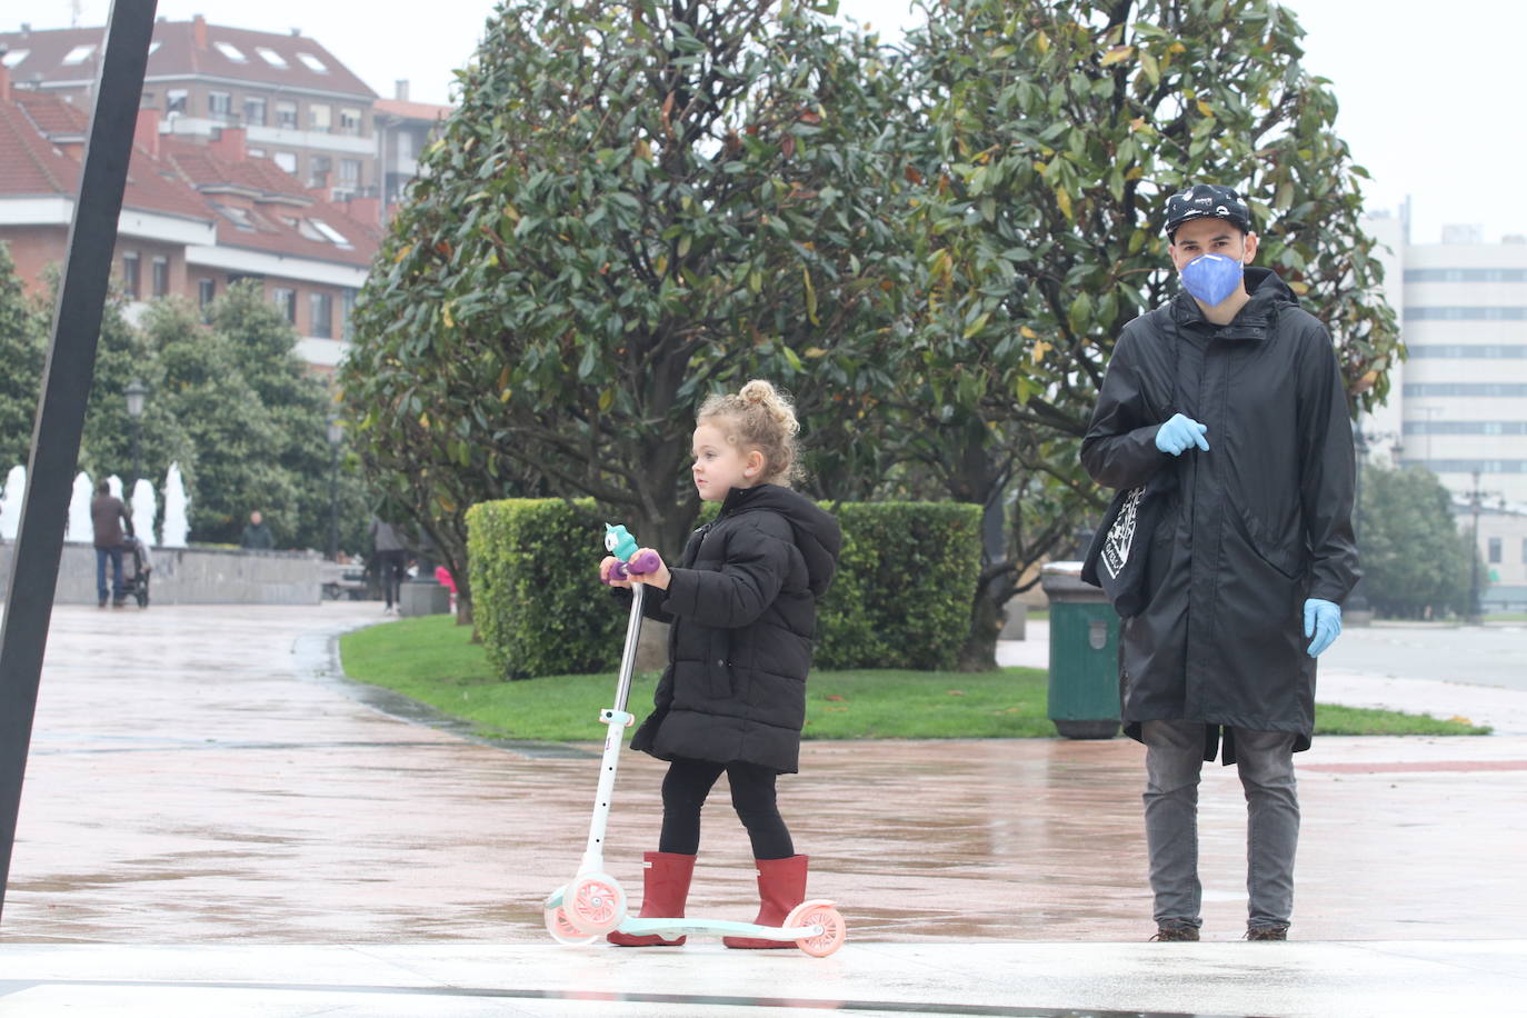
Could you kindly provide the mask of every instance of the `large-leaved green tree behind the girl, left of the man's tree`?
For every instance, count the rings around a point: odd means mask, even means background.
[[[904,102],[809,5],[498,9],[344,371],[366,458],[452,562],[466,502],[528,482],[675,552],[695,411],[753,375],[797,397],[828,491],[873,461],[915,272]]]

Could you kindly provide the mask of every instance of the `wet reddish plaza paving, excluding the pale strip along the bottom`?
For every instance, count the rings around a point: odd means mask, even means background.
[[[597,745],[489,745],[377,713],[319,653],[374,614],[58,609],[6,939],[544,943],[539,904],[582,855]],[[1527,810],[1504,804],[1527,801],[1524,760],[1515,739],[1316,740],[1295,936],[1518,936]],[[634,890],[663,766],[621,763],[606,862]],[[811,893],[840,902],[855,940],[1141,940],[1141,781],[1124,739],[811,742],[780,806]],[[1205,937],[1237,939],[1232,769],[1205,769],[1200,809]],[[705,813],[690,913],[748,917],[724,789]]]

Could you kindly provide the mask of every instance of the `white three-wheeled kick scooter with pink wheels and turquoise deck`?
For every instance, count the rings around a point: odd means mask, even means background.
[[[652,572],[661,565],[655,552],[640,552],[637,540],[625,527],[605,525],[605,548],[618,559],[612,569],[621,580]],[[551,891],[542,905],[547,933],[557,943],[594,943],[612,929],[632,936],[658,934],[666,940],[692,934],[721,934],[754,937],[759,940],[794,942],[806,954],[823,958],[847,939],[843,916],[826,899],[802,902],[791,910],[782,926],[759,926],[750,922],[727,922],[721,919],[637,919],[626,914],[626,891],[620,881],[605,870],[605,826],[609,820],[609,804],[615,791],[615,768],[620,749],[626,740],[626,728],[635,723],[635,716],[626,710],[631,696],[631,676],[635,670],[637,641],[641,636],[641,600],[646,585],[631,588],[631,618],[626,623],[626,646],[620,656],[620,676],[615,684],[615,705],[599,713],[599,720],[609,726],[605,736],[605,754],[600,760],[599,791],[594,795],[594,818],[588,829],[588,844],[577,875]]]

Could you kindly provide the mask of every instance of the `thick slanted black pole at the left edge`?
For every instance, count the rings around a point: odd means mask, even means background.
[[[64,520],[69,519],[86,401],[95,377],[101,314],[111,279],[133,128],[154,34],[154,8],[156,0],[111,3],[95,113],[79,174],[79,200],[69,227],[64,278],[53,308],[43,398],[32,427],[29,484],[0,633],[0,910],[5,908],[11,879],[21,778],[32,740],[37,687],[58,588],[58,560],[64,548]]]

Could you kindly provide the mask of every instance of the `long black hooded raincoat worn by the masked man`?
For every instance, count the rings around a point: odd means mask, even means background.
[[[1330,334],[1266,269],[1229,325],[1179,293],[1130,322],[1113,351],[1081,461],[1102,485],[1176,473],[1145,560],[1148,603],[1124,621],[1119,696],[1139,722],[1298,733],[1315,728],[1315,659],[1303,606],[1356,585],[1353,443]],[[1173,414],[1208,424],[1208,452],[1173,458]],[[1234,760],[1226,745],[1225,762]]]

